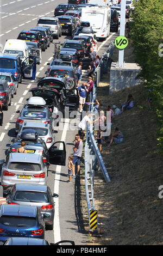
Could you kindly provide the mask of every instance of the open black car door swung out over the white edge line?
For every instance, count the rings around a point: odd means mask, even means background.
[[[58,147],[57,147],[58,144]],[[57,141],[49,148],[49,162],[59,166],[66,165],[66,146],[65,142]]]

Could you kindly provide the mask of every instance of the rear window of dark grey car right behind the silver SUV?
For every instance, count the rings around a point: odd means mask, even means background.
[[[12,200],[21,202],[49,203],[48,194],[39,191],[16,191]]]

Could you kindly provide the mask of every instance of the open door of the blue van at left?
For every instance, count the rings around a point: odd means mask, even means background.
[[[22,76],[24,79],[35,80],[36,58],[30,55],[22,62]]]

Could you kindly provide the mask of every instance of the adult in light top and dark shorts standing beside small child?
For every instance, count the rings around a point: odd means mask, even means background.
[[[72,175],[72,178],[79,178],[79,172],[80,172],[80,158],[82,156],[83,152],[83,141],[80,139],[80,135],[76,135],[76,145],[73,148],[73,164],[74,166],[77,165],[77,175]]]

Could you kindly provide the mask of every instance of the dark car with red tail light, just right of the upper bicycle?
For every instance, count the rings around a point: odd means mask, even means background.
[[[80,61],[80,56],[78,50],[71,48],[61,48],[60,59],[65,62],[72,62],[73,64],[78,64]]]

